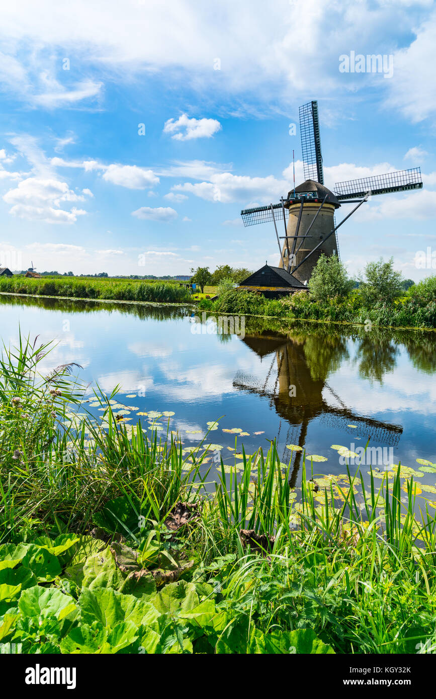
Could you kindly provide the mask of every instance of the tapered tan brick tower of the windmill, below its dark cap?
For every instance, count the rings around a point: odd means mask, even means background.
[[[298,236],[304,236],[305,232],[309,228],[310,224],[312,223],[312,220],[314,218],[314,215],[317,213],[317,210],[319,209],[319,203],[310,203],[307,202],[303,205],[303,212],[301,215],[301,222],[300,222],[300,229],[298,230]],[[296,227],[297,227],[297,222],[298,222],[298,213],[300,212],[300,204],[293,204],[292,206],[289,207],[289,221],[288,221],[288,226],[287,226],[287,235],[288,236],[294,236],[296,232]],[[314,266],[317,264],[317,261],[320,257],[320,255],[324,252],[326,255],[332,255],[332,254],[337,254],[337,246],[336,246],[336,236],[335,233],[333,233],[333,236],[330,236],[328,240],[326,240],[326,243],[324,245],[321,245],[317,252],[314,252],[312,256],[305,262],[305,264],[302,264],[301,267],[298,268],[296,272],[293,271],[293,268],[302,261],[305,256],[307,255],[310,250],[313,250],[314,247],[318,245],[318,243],[321,242],[326,236],[328,236],[328,233],[335,227],[334,219],[333,216],[335,214],[335,207],[332,204],[324,204],[323,208],[319,212],[317,216],[317,220],[314,222],[312,228],[310,229],[309,236],[305,238],[303,241],[303,245],[301,245],[300,250],[296,253],[296,259],[293,262],[293,265],[289,268],[289,271],[298,279],[300,282],[309,282],[310,277],[312,276],[312,271],[314,269]],[[293,238],[289,238],[287,241],[289,244],[289,251],[292,253],[292,248],[293,248]],[[297,238],[296,239],[296,246],[295,250],[298,250],[298,247],[300,246],[300,243],[302,243],[302,238]],[[285,264],[285,269],[288,268],[288,257],[287,257],[287,245],[286,245],[286,240],[283,241],[283,250],[282,250],[282,255],[284,258],[284,264]],[[282,265],[282,259],[279,260],[279,267],[283,267]]]

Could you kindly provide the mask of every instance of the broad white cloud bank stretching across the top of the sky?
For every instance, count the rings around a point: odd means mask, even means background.
[[[208,105],[215,100],[240,115],[261,111],[259,101],[268,110],[289,105],[298,94],[307,96],[307,85],[319,99],[368,84],[388,89],[391,103],[416,120],[436,108],[426,70],[435,64],[430,0],[362,0],[351,8],[337,0],[220,0],[219,12],[196,0],[123,5],[107,0],[102,7],[77,0],[73,17],[68,3],[58,3],[54,13],[52,0],[3,7],[2,72],[8,89],[32,105],[66,106],[99,96],[96,69],[119,81],[161,71],[168,84],[186,82]],[[339,73],[341,53],[354,47],[390,53],[411,31],[416,39],[395,52],[391,80]],[[61,70],[65,52],[72,68],[79,66],[73,84]],[[50,73],[56,60],[57,77]],[[228,95],[240,99],[226,104]]]

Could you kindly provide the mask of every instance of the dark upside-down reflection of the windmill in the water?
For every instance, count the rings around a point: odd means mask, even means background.
[[[271,409],[284,420],[288,426],[286,442],[292,442],[303,449],[310,422],[319,418],[330,428],[340,430],[356,438],[361,435],[362,445],[369,438],[371,445],[387,444],[395,447],[402,435],[402,427],[368,415],[360,415],[345,405],[340,396],[330,387],[327,378],[330,369],[314,376],[307,360],[305,341],[289,338],[275,333],[261,336],[245,334],[241,341],[252,352],[263,359],[271,359],[266,376],[257,377],[242,371],[236,373],[233,387],[266,398]],[[325,345],[325,338],[320,338]],[[322,354],[316,353],[317,356]],[[322,374],[322,375],[321,375]],[[296,387],[296,398],[291,398],[289,387]],[[327,400],[326,389],[330,394]],[[286,449],[284,449],[286,452]],[[295,485],[302,452],[296,453],[293,464],[291,484]],[[287,454],[283,455],[286,461]]]

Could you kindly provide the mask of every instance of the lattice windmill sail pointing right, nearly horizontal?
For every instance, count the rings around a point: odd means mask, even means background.
[[[361,180],[337,182],[334,192],[339,201],[365,196],[365,194],[388,194],[406,192],[408,189],[422,189],[421,168],[398,170],[385,175],[374,175]]]

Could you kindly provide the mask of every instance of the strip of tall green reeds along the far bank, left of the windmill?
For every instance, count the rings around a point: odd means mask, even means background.
[[[191,294],[177,282],[95,279],[80,277],[43,277],[31,279],[14,275],[0,277],[0,292],[63,296],[67,298],[101,298],[114,301],[191,301]]]

